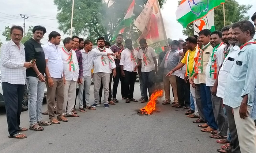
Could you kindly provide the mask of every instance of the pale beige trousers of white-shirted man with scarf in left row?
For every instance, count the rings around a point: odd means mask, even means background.
[[[63,115],[72,115],[76,100],[76,81],[66,81],[64,85]]]

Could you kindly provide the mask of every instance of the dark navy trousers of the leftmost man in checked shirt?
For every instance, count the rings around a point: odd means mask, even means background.
[[[8,132],[10,136],[19,133],[24,87],[25,85],[12,85],[8,82],[2,82]]]

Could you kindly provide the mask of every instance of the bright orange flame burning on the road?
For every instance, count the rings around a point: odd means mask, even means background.
[[[152,113],[152,111],[155,110],[155,102],[157,101],[157,97],[160,97],[163,95],[163,90],[156,91],[153,93],[150,97],[150,101],[147,103],[147,105],[140,109],[138,113],[149,115]]]

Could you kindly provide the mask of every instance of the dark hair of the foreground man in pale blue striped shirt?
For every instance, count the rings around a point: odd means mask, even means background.
[[[233,24],[232,29],[239,28],[242,32],[250,31],[250,36],[253,37],[255,35],[255,29],[253,24],[248,20],[238,21]]]

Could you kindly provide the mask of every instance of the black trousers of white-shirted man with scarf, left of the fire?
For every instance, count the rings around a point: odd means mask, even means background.
[[[137,72],[129,72],[124,70],[124,97],[133,98],[134,83],[136,81]]]

